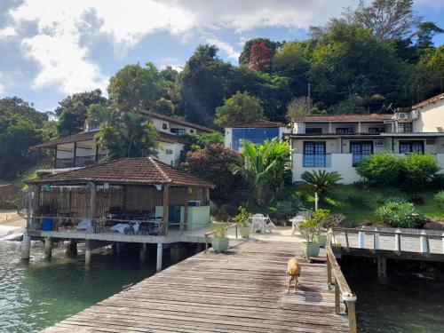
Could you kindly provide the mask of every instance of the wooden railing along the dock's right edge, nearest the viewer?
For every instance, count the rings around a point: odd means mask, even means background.
[[[335,286],[335,311],[337,314],[341,313],[341,298],[345,302],[346,314],[348,316],[348,327],[350,333],[356,333],[356,295],[353,294],[352,289],[348,286],[344,274],[342,274],[341,267],[337,264],[337,259],[333,250],[331,249],[333,232],[329,230],[327,234],[327,242],[325,245],[325,252],[327,254],[327,282]],[[334,281],[333,281],[334,278]]]

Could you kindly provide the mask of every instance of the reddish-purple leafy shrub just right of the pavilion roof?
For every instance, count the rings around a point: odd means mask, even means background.
[[[212,144],[189,152],[180,166],[182,170],[212,182],[216,187],[211,190],[211,195],[219,199],[228,197],[239,185],[240,179],[233,177],[230,171],[232,165],[243,165],[242,155],[224,145]]]

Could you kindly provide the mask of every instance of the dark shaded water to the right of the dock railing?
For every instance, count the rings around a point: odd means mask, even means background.
[[[444,332],[444,266],[388,262],[385,286],[377,283],[371,260],[355,259],[341,267],[358,296],[360,332]]]

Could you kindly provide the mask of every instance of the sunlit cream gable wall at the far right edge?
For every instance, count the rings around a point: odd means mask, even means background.
[[[413,122],[413,131],[444,131],[444,99],[417,110],[419,111],[419,118]]]

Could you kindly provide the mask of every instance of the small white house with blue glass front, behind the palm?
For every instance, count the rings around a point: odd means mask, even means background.
[[[289,131],[289,127],[283,123],[274,123],[265,120],[242,123],[225,129],[225,146],[241,151],[243,141],[259,144],[266,139],[281,140],[283,135],[289,133]]]

